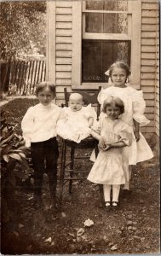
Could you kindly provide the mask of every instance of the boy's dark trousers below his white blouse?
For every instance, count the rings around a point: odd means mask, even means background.
[[[43,173],[49,177],[49,189],[51,197],[56,196],[57,185],[57,160],[59,156],[56,137],[41,143],[31,144],[32,163],[34,169],[34,195],[42,194]]]

